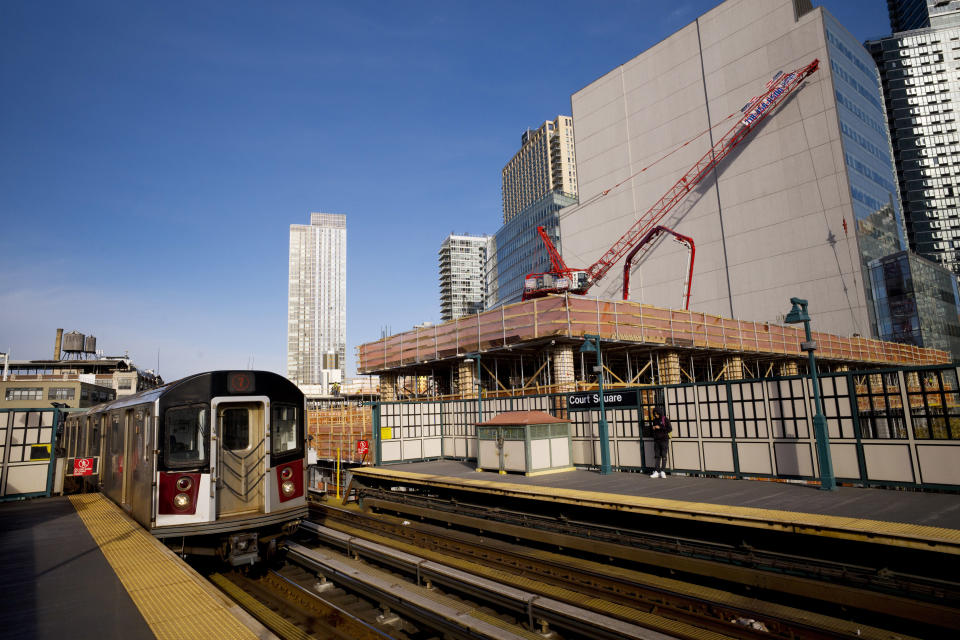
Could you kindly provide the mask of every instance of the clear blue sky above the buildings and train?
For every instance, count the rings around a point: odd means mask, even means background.
[[[570,95],[716,6],[0,3],[0,351],[283,373],[289,225],[347,215],[347,356],[440,318],[437,250]],[[883,0],[828,0],[857,38]],[[668,7],[663,9],[662,7]]]

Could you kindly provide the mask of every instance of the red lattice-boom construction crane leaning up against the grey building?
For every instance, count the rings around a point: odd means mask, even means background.
[[[543,243],[550,254],[551,271],[531,273],[523,283],[523,299],[539,298],[549,293],[586,293],[630,250],[641,238],[646,236],[666,216],[677,203],[681,202],[701,180],[717,166],[721,160],[757,128],[764,118],[776,109],[794,89],[800,86],[807,76],[814,73],[820,64],[814,60],[788,74],[777,73],[767,83],[764,93],[748,102],[737,123],[733,125],[713,147],[703,155],[643,216],[617,240],[605,254],[586,269],[571,269],[564,263],[550,238],[537,227]],[[647,245],[652,246],[652,245]]]

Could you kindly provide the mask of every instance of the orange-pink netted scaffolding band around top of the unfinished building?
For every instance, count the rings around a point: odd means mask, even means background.
[[[360,373],[397,373],[411,366],[503,350],[544,339],[602,340],[671,352],[709,352],[717,356],[751,354],[800,359],[806,352],[799,326],[735,320],[665,309],[638,302],[579,296],[548,296],[506,305],[439,325],[422,327],[357,347]],[[813,332],[817,358],[849,365],[914,366],[951,361],[950,354],[908,344],[860,336]]]

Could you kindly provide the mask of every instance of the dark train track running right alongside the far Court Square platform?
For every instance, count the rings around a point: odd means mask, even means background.
[[[463,530],[525,539],[541,548],[563,548],[656,567],[672,574],[687,573],[749,589],[770,590],[782,594],[780,599],[828,597],[830,604],[840,607],[921,623],[943,619],[960,628],[960,584],[955,580],[891,570],[887,568],[892,560],[889,553],[874,553],[880,561],[871,566],[857,564],[846,543],[836,545],[839,550],[832,552],[821,548],[805,549],[802,555],[790,554],[742,541],[730,544],[704,537],[604,526],[563,515],[544,516],[379,489],[364,489],[363,505],[365,509]],[[915,552],[907,553],[909,558],[917,557]],[[831,554],[833,559],[826,557]],[[932,565],[933,571],[949,574],[943,571],[942,559],[928,557],[925,562]],[[901,564],[916,568],[923,563],[911,564],[908,559]],[[828,591],[824,590],[824,583],[829,584]]]

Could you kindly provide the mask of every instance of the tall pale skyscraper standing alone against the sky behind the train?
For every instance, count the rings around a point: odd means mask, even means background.
[[[287,378],[329,385],[346,378],[347,217],[311,213],[290,225]]]

